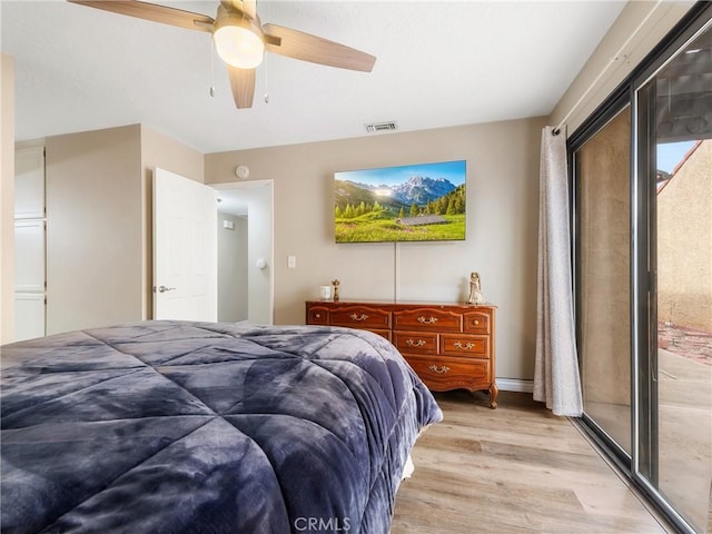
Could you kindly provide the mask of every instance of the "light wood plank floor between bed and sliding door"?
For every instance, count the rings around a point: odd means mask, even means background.
[[[392,534],[659,534],[668,531],[566,418],[531,394],[436,394]]]

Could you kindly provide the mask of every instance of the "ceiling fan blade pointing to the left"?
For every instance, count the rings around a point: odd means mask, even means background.
[[[184,11],[182,9],[167,8],[149,2],[136,0],[67,0],[70,3],[79,3],[90,8],[103,9],[115,13],[128,14],[154,22],[177,26],[188,30],[212,31],[215,19],[207,14]]]

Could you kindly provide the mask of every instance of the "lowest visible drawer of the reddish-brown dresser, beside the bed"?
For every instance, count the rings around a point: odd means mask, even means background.
[[[434,392],[458,387],[488,388],[492,382],[490,360],[443,358],[439,356],[406,356],[413,370]]]

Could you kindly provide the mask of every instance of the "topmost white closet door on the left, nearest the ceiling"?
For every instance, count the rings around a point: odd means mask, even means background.
[[[14,218],[44,217],[44,147],[14,152]]]

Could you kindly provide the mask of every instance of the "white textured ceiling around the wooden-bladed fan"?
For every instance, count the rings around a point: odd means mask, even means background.
[[[160,3],[214,17],[219,2]],[[360,137],[368,122],[408,131],[546,116],[624,4],[258,1],[263,23],[377,61],[364,73],[267,53],[241,110],[208,33],[61,0],[1,0],[0,21],[16,58],[17,140],[141,122],[209,154]]]

